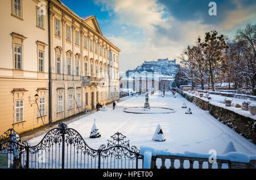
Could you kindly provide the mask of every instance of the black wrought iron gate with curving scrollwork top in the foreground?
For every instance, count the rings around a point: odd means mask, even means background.
[[[35,169],[138,169],[143,157],[122,133],[115,133],[106,145],[90,148],[79,132],[60,123],[35,146],[21,141],[14,129],[0,137],[0,153],[8,156],[7,168]]]

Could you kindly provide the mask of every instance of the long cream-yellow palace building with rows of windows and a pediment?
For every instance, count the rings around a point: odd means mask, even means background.
[[[6,0],[0,9],[0,135],[119,98],[120,49],[94,15],[81,18],[58,0]]]

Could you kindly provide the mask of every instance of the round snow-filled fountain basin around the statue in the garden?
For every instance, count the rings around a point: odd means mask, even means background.
[[[150,107],[150,109],[145,109],[144,107],[127,107],[123,109],[123,112],[133,114],[170,114],[176,111],[166,107]]]

